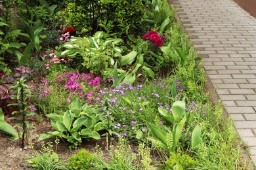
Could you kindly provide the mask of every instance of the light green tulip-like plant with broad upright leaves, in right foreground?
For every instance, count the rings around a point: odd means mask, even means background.
[[[173,124],[173,130],[171,132],[166,132],[162,130],[160,127],[154,126],[151,123],[148,123],[150,130],[152,132],[153,137],[148,137],[148,140],[153,143],[158,143],[163,150],[167,152],[175,152],[177,145],[179,143],[179,139],[181,138],[182,129],[184,127],[185,122],[189,119],[190,114],[185,114],[185,102],[184,101],[175,101],[172,105],[172,113],[165,109],[158,108],[160,114],[168,120],[171,124]],[[200,134],[201,127],[198,126],[194,129],[192,133],[192,148],[195,149],[200,144]]]

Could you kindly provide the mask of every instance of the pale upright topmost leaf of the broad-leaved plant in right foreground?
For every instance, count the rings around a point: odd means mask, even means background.
[[[185,107],[186,104],[184,101],[175,101],[175,103],[173,103],[171,109],[173,112],[173,118],[175,119],[175,122],[178,123],[181,120],[185,113]]]

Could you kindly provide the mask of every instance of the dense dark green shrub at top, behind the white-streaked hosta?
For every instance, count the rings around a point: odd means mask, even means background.
[[[144,14],[142,1],[79,1],[68,0],[62,12],[69,26],[81,33],[93,34],[105,29],[108,33],[121,35],[138,29]]]

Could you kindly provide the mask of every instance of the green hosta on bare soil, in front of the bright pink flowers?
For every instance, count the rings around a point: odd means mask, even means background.
[[[82,139],[100,139],[98,131],[104,130],[107,124],[103,113],[91,105],[82,105],[80,99],[73,101],[66,112],[46,116],[51,119],[51,126],[55,131],[44,133],[39,141],[61,137],[71,144],[70,148],[76,148]]]

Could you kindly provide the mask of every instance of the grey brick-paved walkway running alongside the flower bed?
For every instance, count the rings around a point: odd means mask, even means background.
[[[173,0],[256,165],[256,19],[232,0]]]

